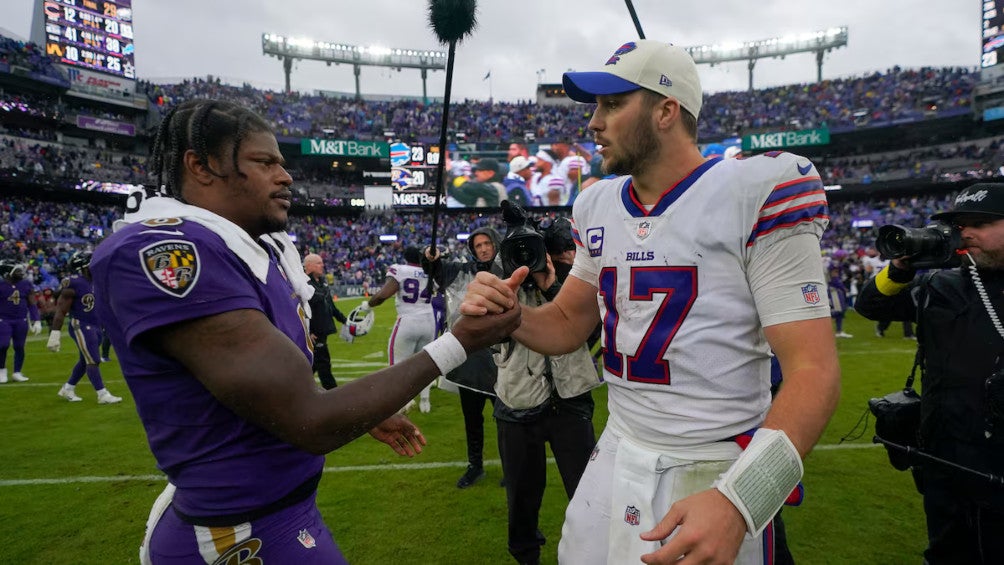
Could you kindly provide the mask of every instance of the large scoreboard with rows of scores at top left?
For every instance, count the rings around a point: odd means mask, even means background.
[[[136,78],[133,0],[41,0],[45,52],[60,62]]]

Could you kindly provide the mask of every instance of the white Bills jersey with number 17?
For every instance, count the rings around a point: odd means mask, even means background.
[[[610,426],[655,450],[759,426],[763,327],[829,317],[818,250],[828,209],[812,164],[779,152],[711,160],[651,210],[631,178],[599,181],[572,217],[571,275],[598,291]]]

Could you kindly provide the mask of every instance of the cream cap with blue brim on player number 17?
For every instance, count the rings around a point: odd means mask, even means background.
[[[652,39],[629,41],[613,51],[602,70],[566,72],[561,84],[576,102],[648,88],[673,96],[694,117],[701,113],[703,93],[694,59],[681,47]]]

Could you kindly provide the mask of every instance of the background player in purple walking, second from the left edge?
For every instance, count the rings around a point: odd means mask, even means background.
[[[74,274],[62,281],[46,347],[52,352],[59,351],[60,330],[62,330],[63,320],[68,315],[70,317],[69,336],[73,339],[80,354],[69,373],[69,378],[57,394],[70,402],[82,400],[83,398],[76,395],[76,383],[80,382],[80,379],[86,374],[87,379],[94,386],[94,390],[97,391],[97,403],[115,404],[122,399],[108,392],[108,389],[104,387],[101,369],[98,366],[101,362],[99,354],[101,324],[97,319],[97,312],[94,311],[94,293],[90,287],[90,270],[87,268],[90,256],[89,251],[77,251],[70,257],[69,269]]]

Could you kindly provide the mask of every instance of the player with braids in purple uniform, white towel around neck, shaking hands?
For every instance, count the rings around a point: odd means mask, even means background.
[[[268,123],[190,100],[165,116],[151,164],[158,190],[134,195],[91,262],[97,310],[169,482],[141,562],[346,563],[314,502],[324,454],[366,432],[420,453],[425,438],[398,409],[519,314],[462,323],[325,390],[311,369],[313,289],[285,233],[293,180]]]

